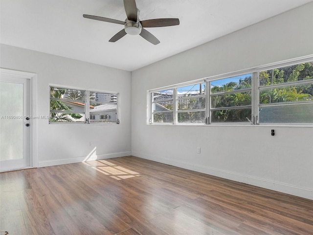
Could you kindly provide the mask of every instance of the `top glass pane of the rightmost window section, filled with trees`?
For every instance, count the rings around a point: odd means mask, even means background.
[[[313,63],[304,63],[260,72],[260,86],[313,79]]]

